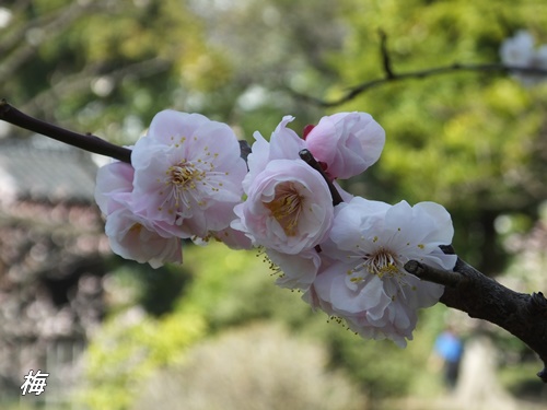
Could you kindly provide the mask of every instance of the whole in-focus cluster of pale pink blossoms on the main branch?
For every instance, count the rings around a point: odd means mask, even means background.
[[[363,337],[404,347],[417,309],[443,293],[404,265],[454,267],[456,256],[439,247],[452,242],[450,214],[433,202],[391,206],[340,188],[337,180],[361,174],[383,150],[385,132],[369,114],[323,117],[302,138],[288,128],[292,120],[283,117],[269,142],[255,132],[245,163],[226,125],[159,113],[132,148],[132,166],[115,162],[98,172],[96,200],[113,250],[158,267],[182,261],[184,238],[258,247],[280,286],[303,292]]]

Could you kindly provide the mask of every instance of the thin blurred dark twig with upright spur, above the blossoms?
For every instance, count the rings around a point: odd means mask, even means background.
[[[383,51],[386,52],[386,51]],[[389,59],[387,60],[389,61]],[[384,70],[385,70],[385,56],[384,56]],[[462,65],[458,62],[455,62],[450,66],[442,66],[442,67],[435,67],[432,69],[427,69],[427,70],[419,70],[419,71],[408,71],[404,72],[400,74],[397,74],[393,71],[391,66],[387,66],[389,68],[389,71],[384,72],[384,77],[372,80],[372,81],[366,81],[363,82],[359,85],[350,87],[345,95],[342,95],[338,99],[333,99],[333,101],[325,101],[321,98],[316,98],[311,95],[306,94],[301,94],[292,89],[288,89],[291,94],[293,94],[295,97],[299,99],[309,102],[311,104],[321,106],[321,107],[336,107],[338,105],[342,105],[344,103],[350,102],[351,99],[356,98],[358,95],[363,94],[364,92],[374,89],[376,86],[384,85],[388,82],[394,82],[394,81],[404,81],[404,80],[410,80],[410,79],[423,79],[427,77],[433,77],[433,75],[440,75],[440,74],[447,74],[452,72],[457,72],[457,71],[479,71],[479,72],[487,72],[487,71],[503,71],[503,72],[520,72],[524,74],[543,74],[547,79],[547,70],[542,70],[538,68],[527,68],[527,67],[513,67],[513,66],[504,66],[501,63],[480,63],[480,65]]]

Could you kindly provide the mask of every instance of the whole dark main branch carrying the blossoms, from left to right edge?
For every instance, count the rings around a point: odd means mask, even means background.
[[[115,145],[96,136],[72,132],[38,120],[21,113],[5,99],[0,102],[0,120],[85,151],[131,163],[131,150]],[[248,154],[248,145],[242,143],[241,151],[242,156]],[[322,173],[329,185],[333,203],[340,203],[342,199],[339,192],[324,175],[313,155],[307,150],[302,150],[300,156]],[[451,246],[441,248],[446,254],[454,254]],[[496,324],[525,342],[544,362],[544,368],[537,375],[544,383],[547,383],[547,300],[542,292],[525,294],[512,291],[459,258],[453,271],[435,269],[416,260],[407,262],[405,269],[422,280],[443,284],[445,288],[441,303],[466,312],[470,317]]]

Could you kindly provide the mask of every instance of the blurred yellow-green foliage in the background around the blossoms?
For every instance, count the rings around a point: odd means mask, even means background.
[[[268,136],[287,114],[296,116],[300,131],[334,112],[371,113],[386,130],[386,147],[347,189],[389,202],[442,203],[453,215],[458,255],[490,274],[510,262],[497,221],[517,221],[512,226],[526,231],[547,198],[546,84],[525,89],[503,72],[454,72],[392,82],[330,109],[288,91],[330,101],[382,78],[379,30],[387,35],[396,73],[496,62],[501,42],[519,28],[547,43],[542,1],[18,4],[0,4],[13,12],[0,28],[0,96],[67,128],[130,144],[156,112],[172,107],[226,121],[252,141],[255,130]],[[188,246],[183,269],[128,265],[113,276],[120,294],[132,293],[113,304],[88,351],[80,397],[91,408],[127,408],[126,391],[184,360],[193,343],[265,319],[321,340],[330,366],[346,368],[371,397],[404,395],[419,388],[416,368],[443,326],[444,311],[430,309],[418,340],[400,351],[326,324],[298,293],[274,286],[254,255]],[[135,304],[149,313],[120,325]]]

